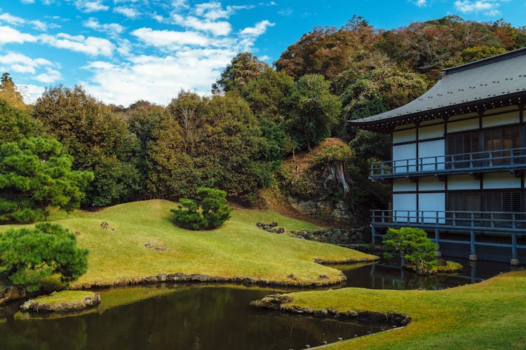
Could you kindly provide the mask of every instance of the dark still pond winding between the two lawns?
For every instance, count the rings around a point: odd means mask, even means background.
[[[509,271],[478,262],[456,276],[422,278],[392,262],[340,266],[347,286],[446,288]],[[290,316],[249,306],[279,292],[219,285],[159,285],[101,290],[102,304],[76,316],[29,316],[0,309],[1,349],[303,349],[389,326]],[[281,290],[283,292],[283,290]]]

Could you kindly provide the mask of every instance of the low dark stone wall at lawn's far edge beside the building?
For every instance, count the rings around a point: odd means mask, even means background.
[[[361,228],[331,228],[328,230],[290,231],[292,235],[303,237],[311,241],[321,241],[332,244],[356,244],[370,239],[367,226]]]

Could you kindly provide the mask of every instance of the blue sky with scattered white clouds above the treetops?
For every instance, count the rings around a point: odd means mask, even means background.
[[[460,15],[526,25],[526,0],[0,0],[0,71],[34,102],[43,88],[83,87],[107,103],[167,104],[210,93],[232,57],[269,63],[318,25],[353,14],[377,29]]]

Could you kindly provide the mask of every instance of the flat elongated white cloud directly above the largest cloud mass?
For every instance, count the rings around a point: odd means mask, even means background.
[[[211,45],[210,38],[207,38],[196,31],[171,31],[171,30],[154,30],[151,28],[135,29],[131,32],[147,45],[156,47],[177,47],[181,45]]]

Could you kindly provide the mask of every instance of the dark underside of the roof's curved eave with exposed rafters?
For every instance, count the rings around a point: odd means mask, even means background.
[[[385,118],[382,120],[349,120],[354,127],[363,130],[373,130],[376,132],[392,132],[394,127],[405,124],[418,124],[426,120],[447,119],[451,116],[459,114],[484,112],[489,109],[496,109],[499,107],[522,105],[526,100],[526,92],[515,92],[513,94],[504,94],[498,97],[491,97],[488,99],[480,99],[473,102],[465,102],[454,106],[445,106],[438,109],[430,109],[429,111],[420,111],[418,113],[411,113],[405,116],[395,116],[392,118]]]

